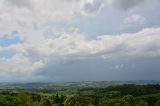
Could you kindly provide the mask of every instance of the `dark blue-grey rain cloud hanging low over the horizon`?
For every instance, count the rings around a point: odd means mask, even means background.
[[[46,81],[110,81],[160,80],[160,57],[130,60],[88,59],[53,65],[36,75],[48,76]]]

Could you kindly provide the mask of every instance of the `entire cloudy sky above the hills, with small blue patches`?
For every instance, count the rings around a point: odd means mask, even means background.
[[[0,0],[0,82],[160,80],[160,0]]]

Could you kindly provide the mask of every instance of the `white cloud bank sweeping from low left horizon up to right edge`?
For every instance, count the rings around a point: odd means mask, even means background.
[[[159,33],[160,28],[147,28],[137,33],[101,35],[96,39],[80,32],[64,33],[53,38],[45,38],[40,32],[20,36],[24,37],[23,43],[1,47],[1,51],[14,51],[15,55],[0,59],[3,66],[0,75],[10,72],[15,73],[10,76],[15,78],[17,74],[23,76],[27,73],[25,79],[29,79],[41,68],[48,67],[49,63],[53,63],[51,66],[54,67],[56,64],[90,58],[114,60],[159,57]]]

